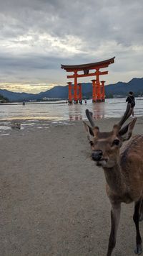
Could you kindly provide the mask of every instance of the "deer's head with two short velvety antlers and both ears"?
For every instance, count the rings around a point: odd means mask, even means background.
[[[125,140],[129,140],[132,136],[132,130],[137,120],[134,118],[132,122],[122,127],[124,122],[132,114],[131,105],[127,104],[124,116],[122,116],[118,124],[114,124],[111,132],[100,132],[99,127],[94,124],[92,112],[87,109],[86,114],[92,126],[89,127],[89,125],[84,122],[87,138],[92,149],[92,160],[94,160],[98,166],[112,168],[119,163],[119,149],[122,143]]]

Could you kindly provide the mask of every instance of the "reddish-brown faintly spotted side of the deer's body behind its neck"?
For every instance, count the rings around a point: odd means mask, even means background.
[[[143,196],[143,135],[135,135],[120,156],[122,173],[132,201]]]

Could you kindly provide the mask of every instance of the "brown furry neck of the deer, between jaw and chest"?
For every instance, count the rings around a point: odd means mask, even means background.
[[[126,192],[122,169],[118,163],[112,168],[104,168],[104,175],[110,191],[118,195],[122,195]]]

